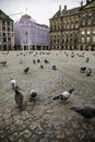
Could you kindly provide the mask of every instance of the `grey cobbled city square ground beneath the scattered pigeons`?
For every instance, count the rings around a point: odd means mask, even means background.
[[[86,121],[70,109],[95,108],[94,51],[1,51],[2,61],[7,63],[0,63],[0,142],[95,142],[95,118]],[[23,70],[27,67],[29,70],[25,74]],[[81,73],[82,67],[92,69],[92,74]],[[15,104],[10,79],[17,81],[23,94],[22,109]],[[72,87],[74,92],[68,103],[52,100]],[[35,102],[28,99],[32,88],[37,91]]]

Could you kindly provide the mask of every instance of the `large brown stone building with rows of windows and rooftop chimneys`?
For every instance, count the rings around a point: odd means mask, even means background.
[[[70,10],[59,5],[49,21],[50,49],[95,50],[95,0]]]

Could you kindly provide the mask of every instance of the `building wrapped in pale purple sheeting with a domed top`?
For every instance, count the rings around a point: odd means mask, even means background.
[[[49,27],[24,14],[14,24],[14,43],[16,50],[48,49]]]

